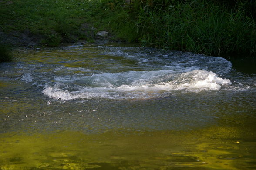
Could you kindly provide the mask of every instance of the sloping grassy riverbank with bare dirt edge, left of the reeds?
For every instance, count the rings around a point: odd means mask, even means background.
[[[81,0],[0,1],[0,42],[15,47],[58,47],[112,39],[111,33],[106,38],[97,35],[110,28],[102,18],[108,15],[101,11],[101,1],[96,3],[92,10],[91,2]]]

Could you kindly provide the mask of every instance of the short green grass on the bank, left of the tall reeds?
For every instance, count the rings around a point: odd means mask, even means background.
[[[100,30],[109,30],[109,16],[119,1],[107,0],[2,0],[0,30],[5,33],[29,31],[50,47],[80,39],[93,41]],[[98,30],[92,30],[96,27]]]

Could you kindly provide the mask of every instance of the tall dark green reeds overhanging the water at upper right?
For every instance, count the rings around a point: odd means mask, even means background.
[[[246,1],[228,4],[220,0],[135,0],[115,22],[121,28],[119,35],[131,41],[139,40],[144,46],[214,56],[255,56],[255,11],[251,8],[255,4]],[[122,30],[120,23],[129,31]]]

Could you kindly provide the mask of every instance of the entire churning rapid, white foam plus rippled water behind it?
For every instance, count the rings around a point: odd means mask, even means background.
[[[47,71],[45,61],[33,63],[20,78],[54,99],[148,99],[221,90],[232,84],[225,77],[232,64],[221,57],[111,46],[72,46],[55,53],[65,58],[53,56],[56,62],[48,63]]]

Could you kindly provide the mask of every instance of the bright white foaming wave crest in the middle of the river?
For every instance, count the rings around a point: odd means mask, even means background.
[[[44,86],[43,94],[61,100],[73,99],[147,99],[166,97],[175,91],[219,90],[231,81],[211,71],[173,70],[102,73],[67,80],[56,79]]]

